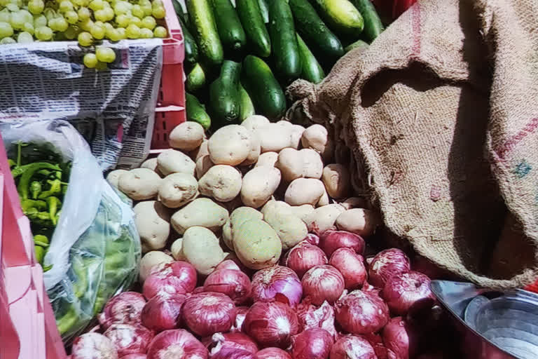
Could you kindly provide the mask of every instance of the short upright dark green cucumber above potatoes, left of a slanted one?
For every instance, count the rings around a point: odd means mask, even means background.
[[[241,64],[224,60],[221,75],[209,85],[209,107],[219,125],[238,123],[240,115],[239,79]]]

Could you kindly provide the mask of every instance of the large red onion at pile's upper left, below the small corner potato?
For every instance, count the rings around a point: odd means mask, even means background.
[[[196,286],[196,269],[187,262],[176,261],[164,264],[144,281],[142,293],[147,299],[153,298],[158,292],[168,294],[186,294]]]

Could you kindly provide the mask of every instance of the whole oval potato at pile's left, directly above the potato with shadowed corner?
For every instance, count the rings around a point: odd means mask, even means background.
[[[161,180],[148,168],[135,168],[121,175],[118,189],[135,201],[142,201],[157,196]]]

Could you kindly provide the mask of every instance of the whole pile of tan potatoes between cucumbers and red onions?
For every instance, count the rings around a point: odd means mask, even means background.
[[[364,199],[351,197],[347,168],[331,163],[333,143],[323,126],[254,115],[207,139],[202,126],[186,122],[172,130],[170,146],[141,168],[107,177],[138,201],[142,280],[151,266],[173,259],[207,275],[228,251],[262,269],[308,232],[369,236],[378,223]],[[170,238],[172,257],[163,252]]]

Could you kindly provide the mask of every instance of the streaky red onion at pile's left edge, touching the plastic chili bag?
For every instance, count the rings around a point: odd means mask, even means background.
[[[99,324],[106,330],[112,324],[141,323],[140,313],[146,305],[144,296],[137,292],[123,292],[115,295],[106,303],[102,313],[97,317]]]

